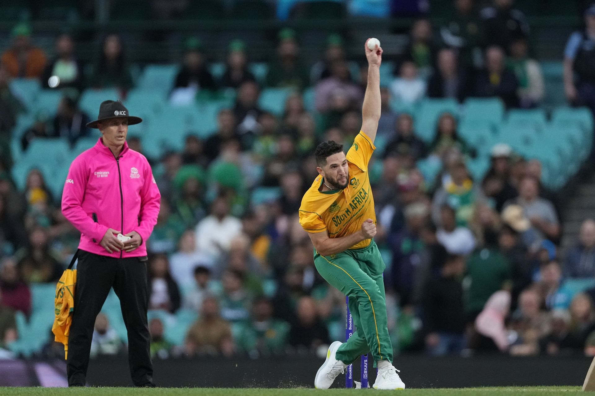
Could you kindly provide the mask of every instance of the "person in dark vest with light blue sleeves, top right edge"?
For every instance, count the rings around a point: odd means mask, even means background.
[[[585,10],[584,22],[583,32],[572,33],[564,49],[564,93],[570,103],[595,112],[595,4]]]

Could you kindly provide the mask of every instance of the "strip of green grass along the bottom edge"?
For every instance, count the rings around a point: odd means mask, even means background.
[[[415,396],[441,396],[441,395],[568,395],[569,392],[578,392],[581,388],[578,386],[528,386],[528,387],[510,387],[510,388],[465,388],[465,389],[406,389],[405,391],[375,391],[381,395],[393,395],[406,392],[408,395]],[[61,396],[61,395],[101,395],[101,396],[135,396],[135,395],[189,395],[189,396],[310,396],[310,395],[328,395],[328,396],[347,396],[353,392],[359,392],[355,389],[262,389],[262,388],[155,388],[155,389],[137,389],[137,388],[2,388],[0,395],[4,396]],[[366,391],[368,392],[368,390]]]

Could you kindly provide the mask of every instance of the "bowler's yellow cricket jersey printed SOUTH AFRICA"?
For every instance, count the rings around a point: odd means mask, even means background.
[[[329,238],[339,238],[360,230],[365,219],[376,223],[368,177],[368,162],[375,149],[370,138],[360,131],[346,155],[349,185],[343,190],[320,191],[322,175],[314,179],[299,208],[299,222],[304,230],[327,231]],[[371,241],[361,241],[349,249],[366,247]]]

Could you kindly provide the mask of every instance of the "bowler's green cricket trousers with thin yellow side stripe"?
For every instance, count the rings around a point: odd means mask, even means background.
[[[356,331],[339,347],[336,357],[350,364],[362,354],[393,363],[393,345],[387,328],[383,272],[386,268],[378,246],[321,256],[314,250],[314,265],[328,283],[349,297]]]

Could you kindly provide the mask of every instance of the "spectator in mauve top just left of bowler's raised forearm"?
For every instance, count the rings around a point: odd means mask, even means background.
[[[315,108],[324,113],[331,109],[331,96],[342,95],[350,106],[357,107],[364,99],[358,84],[351,80],[346,61],[337,61],[330,65],[330,76],[324,78],[315,87]]]

